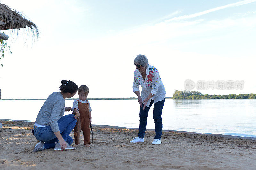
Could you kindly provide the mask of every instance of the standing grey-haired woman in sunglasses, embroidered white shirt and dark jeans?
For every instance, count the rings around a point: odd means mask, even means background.
[[[140,126],[138,137],[133,138],[131,142],[144,142],[148,111],[154,103],[153,119],[156,136],[152,144],[161,144],[163,128],[161,115],[166,94],[164,85],[158,70],[154,66],[148,65],[148,59],[145,55],[137,55],[134,59],[134,65],[136,70],[134,71],[133,92],[138,96],[140,103]],[[142,87],[141,96],[139,85]]]

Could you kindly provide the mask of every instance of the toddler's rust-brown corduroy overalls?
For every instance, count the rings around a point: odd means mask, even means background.
[[[80,133],[81,130],[84,134],[84,144],[90,144],[90,122],[89,122],[89,103],[86,100],[86,103],[78,102],[78,111],[80,112],[80,116],[77,119],[76,126],[74,127],[74,136],[75,136],[75,144],[80,144]],[[74,115],[76,115],[73,112]]]

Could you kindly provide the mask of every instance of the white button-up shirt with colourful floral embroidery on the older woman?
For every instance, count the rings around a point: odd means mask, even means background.
[[[143,80],[139,70],[136,69],[134,71],[134,81],[132,86],[133,92],[140,92],[139,85],[141,85],[142,87],[142,101],[146,99],[150,93],[154,95],[152,98],[148,100],[146,107],[149,107],[151,99],[154,100],[154,103],[164,100],[166,91],[156,67],[151,65],[147,66],[145,80]]]

